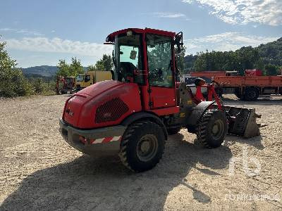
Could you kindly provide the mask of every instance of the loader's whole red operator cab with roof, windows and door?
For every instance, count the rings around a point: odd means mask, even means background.
[[[138,84],[145,110],[177,106],[174,45],[180,48],[182,32],[126,29],[109,34],[106,41],[114,44],[113,78]]]

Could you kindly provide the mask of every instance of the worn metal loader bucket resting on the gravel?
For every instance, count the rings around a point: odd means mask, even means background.
[[[228,114],[228,134],[243,136],[244,138],[251,138],[259,136],[260,124],[257,124],[257,117],[261,115],[255,113],[255,108],[238,108],[231,106],[224,106]]]

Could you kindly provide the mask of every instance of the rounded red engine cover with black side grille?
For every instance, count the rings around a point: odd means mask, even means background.
[[[137,84],[104,81],[82,89],[66,101],[63,120],[81,129],[120,124],[142,110]]]

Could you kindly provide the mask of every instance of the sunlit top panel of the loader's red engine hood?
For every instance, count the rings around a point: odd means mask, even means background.
[[[118,82],[114,80],[98,82],[96,84],[91,85],[90,87],[86,87],[85,89],[78,91],[78,94],[86,94],[86,95],[94,97],[101,93],[104,93],[105,91],[109,89],[112,89],[114,87],[118,87],[121,85],[123,85],[123,82]]]

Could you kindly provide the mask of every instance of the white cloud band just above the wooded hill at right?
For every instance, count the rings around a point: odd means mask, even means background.
[[[278,37],[261,37],[245,35],[240,32],[226,32],[213,34],[206,37],[185,40],[186,53],[197,53],[200,51],[235,51],[243,46],[259,46],[269,41],[275,41]]]

